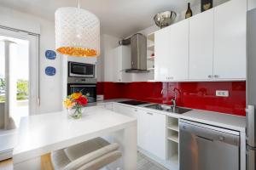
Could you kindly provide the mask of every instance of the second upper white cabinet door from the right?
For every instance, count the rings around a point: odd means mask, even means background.
[[[212,79],[213,9],[189,19],[189,79]]]

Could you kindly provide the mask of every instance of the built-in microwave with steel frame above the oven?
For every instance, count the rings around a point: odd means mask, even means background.
[[[68,77],[96,77],[96,65],[77,63],[73,61],[68,62]]]

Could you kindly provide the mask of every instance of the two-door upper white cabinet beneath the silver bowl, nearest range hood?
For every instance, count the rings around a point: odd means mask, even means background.
[[[154,33],[154,79],[188,79],[189,20],[183,20]]]

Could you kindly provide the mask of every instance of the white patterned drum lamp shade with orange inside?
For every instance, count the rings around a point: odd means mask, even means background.
[[[82,8],[58,8],[55,11],[55,48],[71,56],[98,56],[100,20]]]

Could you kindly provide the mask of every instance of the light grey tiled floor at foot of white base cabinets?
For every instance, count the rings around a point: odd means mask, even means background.
[[[140,152],[137,154],[137,170],[167,170]]]

